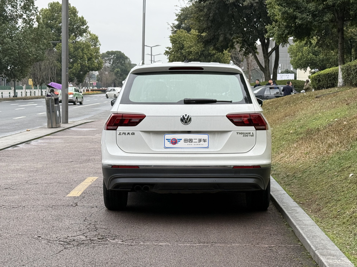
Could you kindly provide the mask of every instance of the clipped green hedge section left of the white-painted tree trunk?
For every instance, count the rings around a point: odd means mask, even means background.
[[[338,67],[324,69],[312,74],[310,80],[314,90],[336,87],[338,83]]]

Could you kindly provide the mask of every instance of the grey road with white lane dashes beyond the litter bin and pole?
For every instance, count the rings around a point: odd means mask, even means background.
[[[103,112],[109,114],[111,100],[104,94],[86,95],[83,105],[68,105],[68,120],[97,118]],[[0,102],[0,125],[0,137],[46,126],[45,99]]]

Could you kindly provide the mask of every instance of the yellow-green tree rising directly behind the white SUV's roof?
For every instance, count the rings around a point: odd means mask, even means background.
[[[198,32],[191,30],[177,30],[170,36],[171,47],[166,47],[164,54],[169,57],[169,62],[189,61],[229,63],[230,53],[219,53],[213,48],[205,47],[198,41]]]

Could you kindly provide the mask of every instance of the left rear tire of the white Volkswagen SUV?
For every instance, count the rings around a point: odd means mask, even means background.
[[[123,210],[128,201],[128,192],[108,190],[103,180],[104,205],[109,210]]]

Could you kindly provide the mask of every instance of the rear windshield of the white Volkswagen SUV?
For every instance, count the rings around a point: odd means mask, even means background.
[[[242,74],[195,71],[130,74],[120,103],[183,104],[184,98],[232,100],[233,104],[252,103]]]

